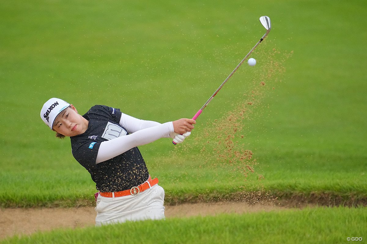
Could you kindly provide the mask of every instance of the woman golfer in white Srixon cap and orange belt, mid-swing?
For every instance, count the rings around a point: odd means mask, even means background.
[[[164,190],[157,178],[150,177],[137,146],[163,137],[181,143],[195,120],[160,124],[104,105],[95,105],[81,116],[58,98],[43,105],[41,118],[57,137],[70,137],[73,156],[96,183],[96,226],[164,218]]]

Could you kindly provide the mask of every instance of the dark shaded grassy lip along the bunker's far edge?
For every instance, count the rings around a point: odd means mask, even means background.
[[[367,195],[359,192],[295,192],[295,191],[236,191],[206,193],[166,192],[165,204],[179,205],[199,202],[246,202],[248,204],[272,203],[279,206],[300,207],[308,204],[318,206],[367,206]],[[90,207],[95,205],[94,196],[84,196],[76,199],[32,200],[23,199],[20,202],[11,200],[1,201],[1,208],[34,208],[34,207]]]

